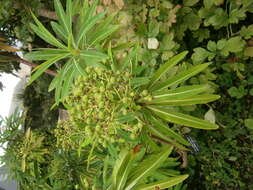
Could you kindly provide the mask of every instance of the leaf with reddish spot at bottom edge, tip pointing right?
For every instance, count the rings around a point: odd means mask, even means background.
[[[154,190],[154,189],[166,189],[183,182],[189,175],[180,175],[176,177],[170,177],[165,180],[157,181],[154,183],[140,185],[133,190]]]

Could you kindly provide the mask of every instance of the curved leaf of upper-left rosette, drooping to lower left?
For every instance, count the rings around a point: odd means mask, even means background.
[[[53,57],[52,59],[49,59],[46,62],[39,65],[37,68],[35,68],[36,72],[31,76],[31,79],[30,79],[28,85],[30,85],[33,81],[35,81],[45,70],[47,70],[55,62],[65,58],[69,55],[70,54],[62,54],[62,55]]]

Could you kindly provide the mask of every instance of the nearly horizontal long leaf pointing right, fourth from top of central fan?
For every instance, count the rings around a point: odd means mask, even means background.
[[[219,99],[219,95],[214,94],[201,94],[195,95],[187,98],[177,98],[177,99],[165,99],[165,98],[155,98],[154,100],[148,102],[148,104],[156,105],[169,105],[169,106],[186,106],[194,104],[206,104],[214,100]]]

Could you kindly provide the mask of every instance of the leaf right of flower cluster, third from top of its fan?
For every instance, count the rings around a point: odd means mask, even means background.
[[[164,89],[160,91],[155,91],[154,93],[152,93],[152,95],[155,99],[156,98],[177,99],[197,95],[207,91],[208,89],[209,89],[208,85],[191,85],[191,86],[182,86],[171,90]]]

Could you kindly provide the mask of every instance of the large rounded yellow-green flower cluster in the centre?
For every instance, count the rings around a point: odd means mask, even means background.
[[[152,96],[147,90],[138,92],[131,87],[133,76],[128,71],[87,67],[86,72],[86,76],[77,78],[66,99],[69,121],[59,123],[58,129],[66,131],[64,125],[77,127],[104,147],[108,143],[126,143],[119,130],[135,139],[143,126],[135,117],[142,108],[138,102]]]

